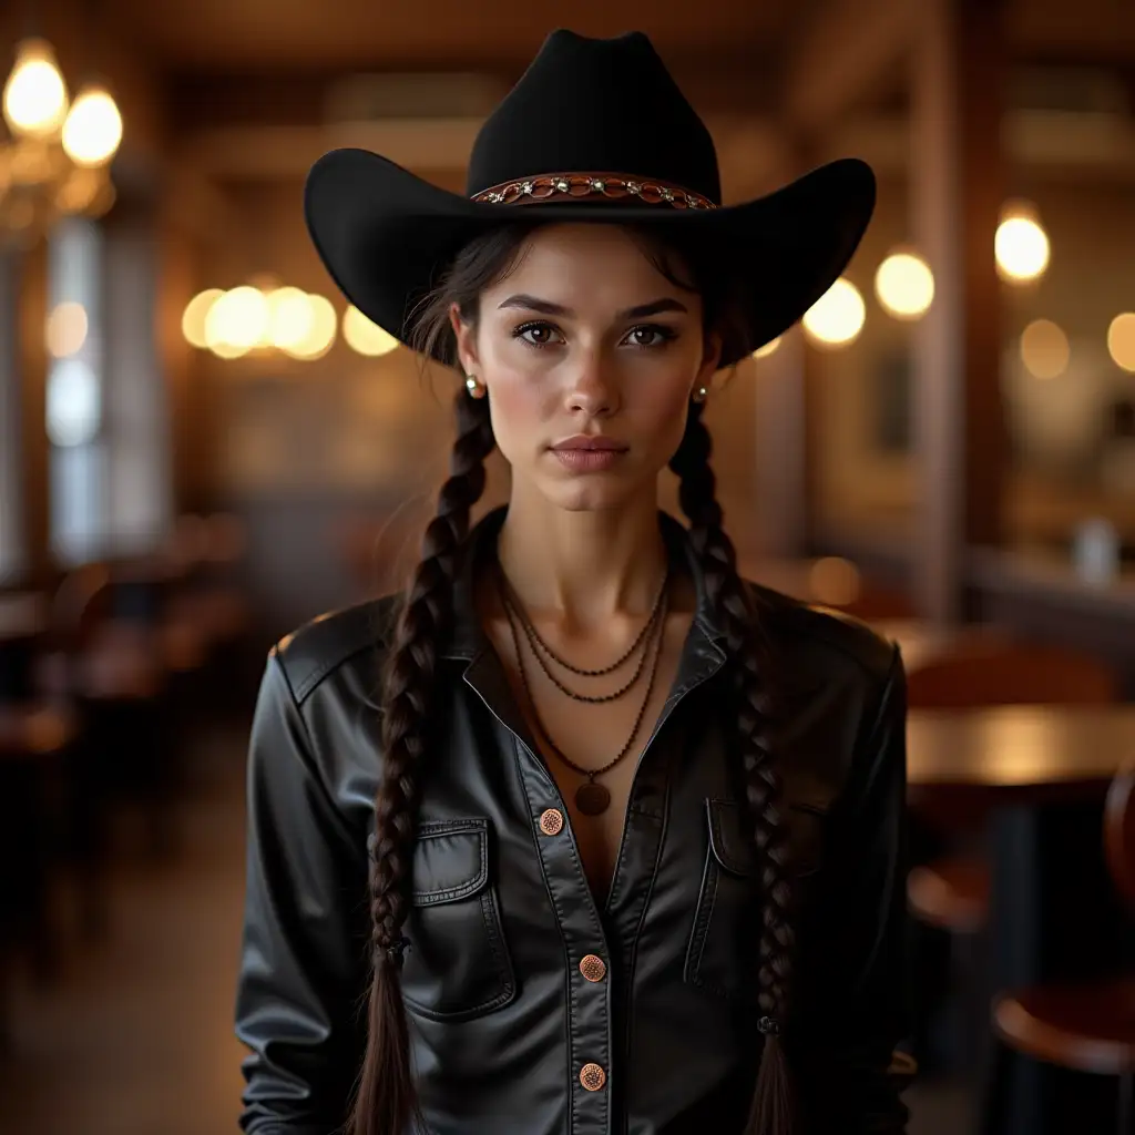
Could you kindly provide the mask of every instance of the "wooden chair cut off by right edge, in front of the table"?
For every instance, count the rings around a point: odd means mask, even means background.
[[[1103,841],[1116,890],[1135,911],[1135,760],[1111,783]],[[1135,972],[1110,981],[1037,985],[999,994],[993,1029],[1011,1049],[1119,1079],[1117,1132],[1135,1132]]]

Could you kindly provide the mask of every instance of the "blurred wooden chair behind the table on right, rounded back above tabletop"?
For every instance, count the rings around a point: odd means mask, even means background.
[[[948,653],[907,678],[908,703],[919,709],[1100,706],[1113,704],[1118,696],[1115,675],[1094,657],[977,634],[960,638]],[[913,806],[922,807],[932,823],[942,824],[933,793],[925,793],[925,801],[914,797]],[[985,922],[989,872],[976,859],[943,859],[915,867],[907,880],[907,899],[923,922],[972,933]]]

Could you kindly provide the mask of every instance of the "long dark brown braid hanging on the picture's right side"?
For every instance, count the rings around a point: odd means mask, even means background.
[[[781,817],[781,781],[773,765],[771,741],[773,697],[765,666],[755,600],[737,571],[737,552],[726,536],[716,478],[709,464],[713,448],[701,420],[703,405],[690,406],[682,443],[670,462],[681,479],[679,499],[690,520],[690,539],[705,572],[706,590],[724,625],[733,665],[738,743],[760,863],[764,919],[758,952],[758,998],[762,1031],[767,1029],[753,1108],[745,1135],[789,1135],[792,1095],[780,1040],[788,1017],[793,931],[791,886],[787,869],[785,830]],[[767,1018],[767,1019],[766,1019]]]

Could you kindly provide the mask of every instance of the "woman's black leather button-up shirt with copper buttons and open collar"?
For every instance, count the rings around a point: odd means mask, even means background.
[[[755,1025],[759,875],[726,759],[723,634],[686,529],[659,513],[698,609],[634,775],[612,888],[592,899],[568,809],[472,603],[474,527],[442,644],[403,989],[434,1135],[739,1132]],[[794,856],[790,1044],[800,1135],[906,1129],[905,684],[864,625],[757,588],[780,672]],[[364,1043],[377,666],[392,598],[274,647],[249,764],[236,1031],[250,1135],[331,1135]],[[541,825],[549,809],[563,818]],[[605,964],[589,981],[581,960]],[[602,1076],[580,1079],[585,1065]],[[897,1066],[896,1066],[897,1067]],[[602,1086],[595,1090],[595,1084]]]

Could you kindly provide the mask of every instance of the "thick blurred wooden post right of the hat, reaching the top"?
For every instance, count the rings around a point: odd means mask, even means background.
[[[915,348],[916,591],[961,615],[966,548],[1001,538],[1008,440],[993,242],[1003,192],[1002,0],[924,0],[911,56],[911,213],[935,278]]]

